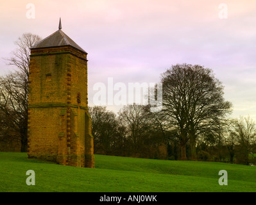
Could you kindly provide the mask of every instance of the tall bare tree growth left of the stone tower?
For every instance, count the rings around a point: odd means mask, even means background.
[[[4,59],[7,65],[15,66],[15,70],[0,78],[0,110],[5,117],[3,124],[15,130],[15,136],[21,140],[22,152],[27,149],[30,47],[40,40],[38,35],[31,33],[19,37],[15,42],[17,49],[10,58]]]

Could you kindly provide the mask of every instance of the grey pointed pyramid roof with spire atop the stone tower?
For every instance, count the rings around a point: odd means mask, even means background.
[[[37,44],[33,45],[31,49],[38,49],[38,48],[44,48],[44,47],[60,47],[69,45],[72,46],[83,53],[86,53],[85,50],[83,50],[78,44],[74,42],[71,38],[69,38],[63,31],[62,31],[62,22],[60,19],[59,25],[58,25],[58,31],[55,31],[52,35],[49,35],[49,37],[44,38]],[[86,53],[87,54],[87,53]]]

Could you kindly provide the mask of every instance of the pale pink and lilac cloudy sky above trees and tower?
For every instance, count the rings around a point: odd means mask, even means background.
[[[28,3],[35,19],[26,17]],[[221,3],[227,19],[219,18]],[[191,63],[214,70],[234,105],[232,117],[256,120],[256,1],[1,1],[1,58],[22,33],[51,35],[59,17],[62,31],[89,53],[90,105],[92,86],[108,77],[157,83],[171,65]],[[0,74],[10,69],[1,59]]]

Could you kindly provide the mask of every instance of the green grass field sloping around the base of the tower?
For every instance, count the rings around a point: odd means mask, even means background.
[[[95,156],[96,168],[56,165],[0,152],[0,192],[256,192],[256,167],[202,161]],[[26,171],[35,171],[35,186]],[[228,172],[220,186],[219,170]]]

